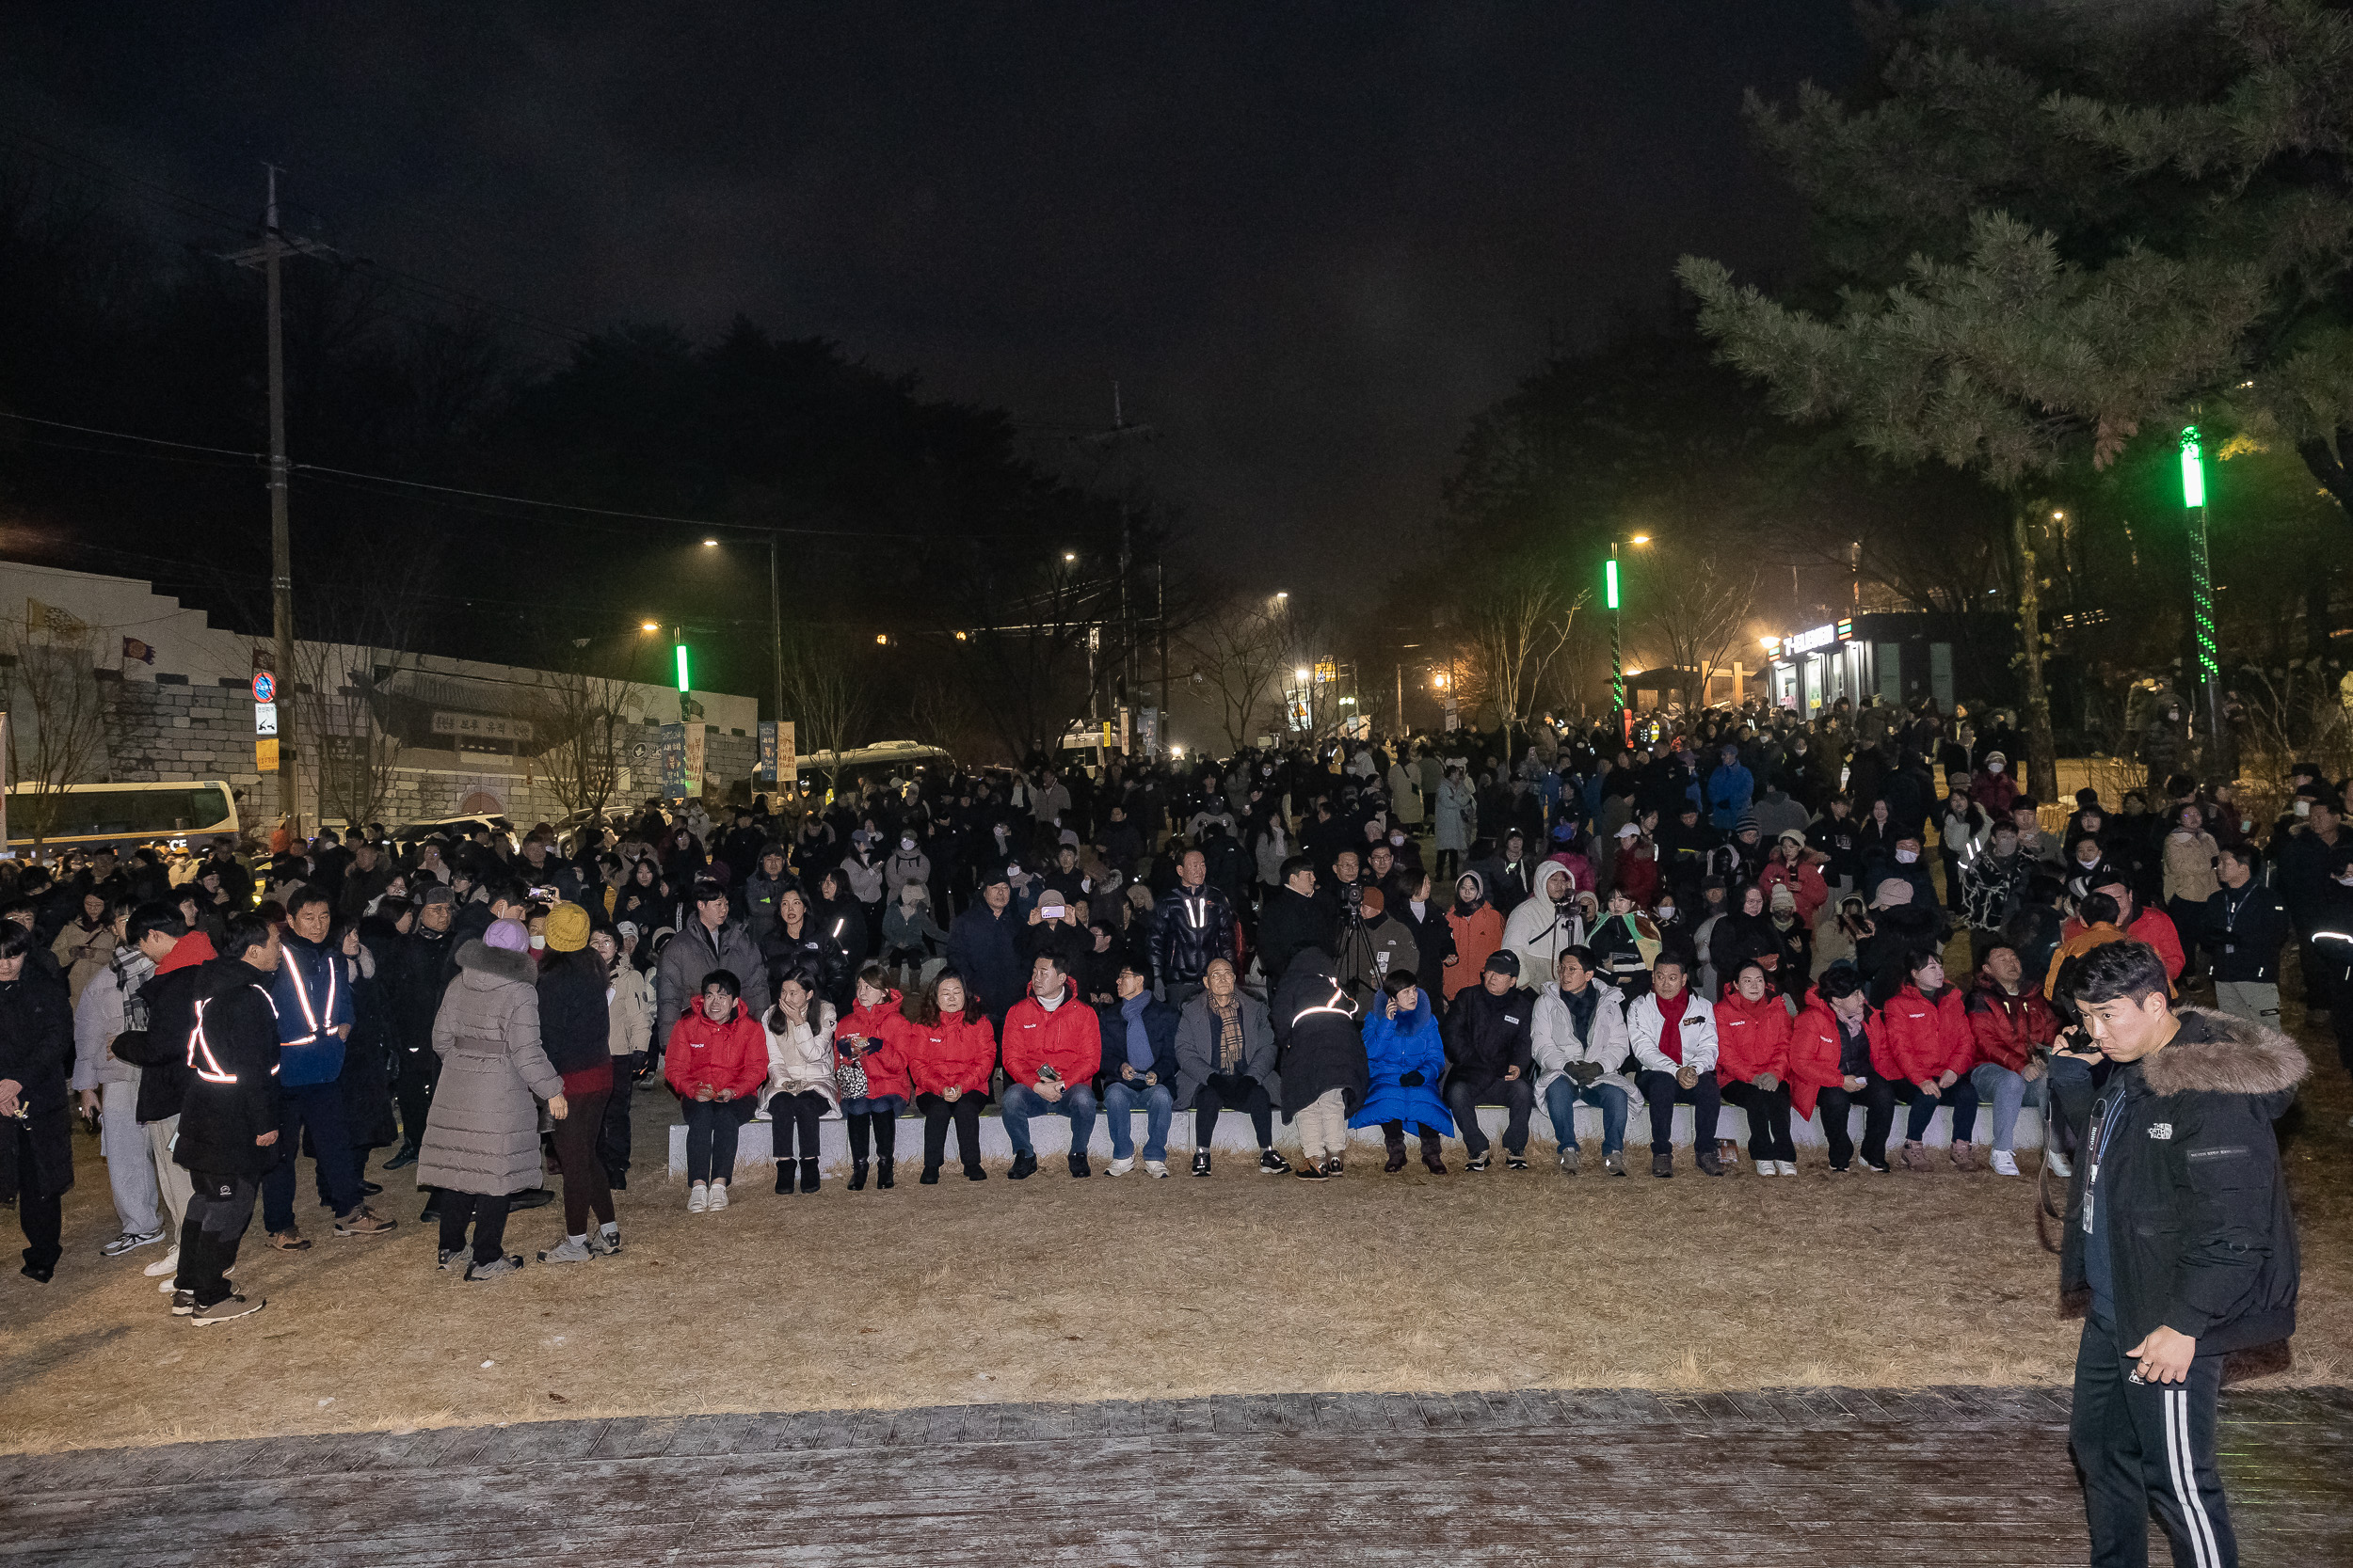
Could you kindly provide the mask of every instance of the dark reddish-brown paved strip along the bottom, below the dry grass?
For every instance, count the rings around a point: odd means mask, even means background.
[[[2245,1561],[2353,1561],[2353,1389],[2226,1394],[2224,1425]],[[9,1563],[1419,1568],[1473,1556],[2082,1563],[2066,1396],[1297,1394],[0,1458]]]

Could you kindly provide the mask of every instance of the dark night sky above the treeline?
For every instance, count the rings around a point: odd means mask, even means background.
[[[1409,548],[1548,339],[1769,266],[1739,99],[1842,82],[1845,0],[52,5],[0,120],[584,329],[748,313],[1042,428],[1214,550]],[[174,219],[160,216],[165,230]],[[184,235],[174,235],[184,237]]]

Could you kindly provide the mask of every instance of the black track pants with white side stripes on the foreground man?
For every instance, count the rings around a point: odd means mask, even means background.
[[[2221,1356],[2198,1356],[2184,1382],[2132,1382],[2132,1356],[2111,1326],[2085,1319],[2075,1352],[2068,1436],[2082,1469],[2092,1568],[2148,1563],[2148,1507],[2184,1568],[2235,1568],[2238,1540],[2214,1469]]]

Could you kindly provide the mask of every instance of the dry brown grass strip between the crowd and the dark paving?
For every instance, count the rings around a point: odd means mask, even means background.
[[[2271,1385],[2353,1375],[2353,1095],[2334,1048],[2313,1056],[2287,1145],[2304,1324]],[[652,1124],[666,1100],[638,1105]],[[381,1241],[334,1241],[306,1208],[318,1244],[289,1255],[256,1222],[238,1279],[271,1307],[202,1331],[139,1274],[153,1251],[96,1258],[113,1208],[82,1143],[56,1284],[0,1276],[0,1448],[1235,1392],[2031,1385],[2073,1363],[2031,1180],[1833,1178],[1819,1154],[1786,1182],[1704,1180],[1687,1157],[1668,1182],[1468,1175],[1449,1145],[1447,1178],[1358,1159],[1308,1185],[1226,1157],[1212,1180],[1080,1185],[1056,1164],[918,1187],[904,1164],[894,1192],[744,1182],[727,1213],[687,1215],[664,1133],[640,1126],[656,1175],[621,1194],[621,1258],[464,1284],[393,1187]],[[558,1237],[555,1208],[508,1229],[525,1253]]]

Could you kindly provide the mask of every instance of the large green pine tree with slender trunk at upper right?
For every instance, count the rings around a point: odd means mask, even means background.
[[[1882,68],[1751,120],[1835,306],[1678,273],[1798,421],[2007,489],[2028,762],[2052,778],[2028,489],[2186,423],[2292,444],[2353,510],[2344,0],[1878,9]],[[1821,303],[1828,303],[1821,301]]]

